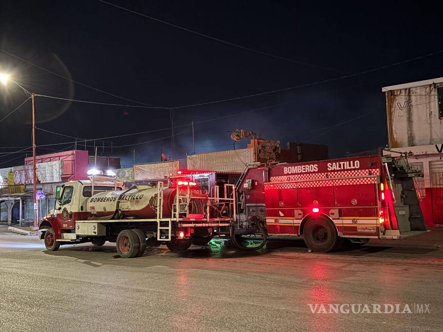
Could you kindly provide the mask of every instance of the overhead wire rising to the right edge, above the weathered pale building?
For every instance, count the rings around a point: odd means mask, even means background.
[[[98,0],[98,1],[102,1],[102,0]],[[394,67],[394,66],[402,65],[402,64],[405,64],[405,63],[409,63],[411,61],[415,61],[415,60],[418,60],[418,59],[422,59],[422,58],[425,58],[425,57],[429,57],[429,56],[433,56],[433,55],[437,55],[437,54],[441,54],[441,53],[443,53],[443,50],[432,52],[432,53],[428,53],[428,54],[425,54],[425,55],[416,56],[414,58],[398,61],[396,63],[390,64],[390,65],[386,65],[386,66],[381,66],[381,67],[377,67],[377,68],[361,71],[361,72],[358,72],[358,73],[355,73],[355,74],[343,75],[343,76],[334,77],[334,78],[328,78],[328,79],[324,79],[324,80],[320,80],[320,81],[316,81],[316,82],[301,84],[301,85],[294,86],[294,87],[277,89],[277,90],[266,91],[266,92],[260,92],[260,93],[255,93],[255,94],[250,94],[250,95],[245,95],[245,96],[239,96],[239,97],[234,97],[234,98],[219,99],[219,100],[213,100],[213,101],[208,101],[208,102],[195,103],[195,104],[191,104],[191,105],[176,106],[176,107],[171,107],[171,109],[179,109],[179,108],[186,108],[186,107],[193,107],[193,106],[209,105],[209,104],[213,104],[213,103],[226,102],[226,101],[232,101],[232,100],[238,100],[238,99],[244,99],[244,98],[251,98],[251,97],[257,97],[257,96],[277,93],[277,92],[283,92],[283,91],[289,91],[289,90],[294,90],[294,89],[299,89],[299,88],[310,87],[310,86],[314,86],[314,85],[318,85],[318,84],[323,84],[323,83],[327,83],[327,82],[332,82],[332,81],[337,81],[337,80],[341,80],[341,79],[345,79],[345,78],[350,78],[350,77],[355,77],[355,76],[359,76],[359,75],[364,75],[364,74],[372,73],[372,72],[375,72],[377,70],[381,70],[381,69],[386,69],[386,68],[389,68],[389,67]]]

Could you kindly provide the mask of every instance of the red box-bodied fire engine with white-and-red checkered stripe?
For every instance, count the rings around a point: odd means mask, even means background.
[[[426,232],[407,157],[379,155],[251,165],[237,190],[246,216],[232,222],[233,242],[261,233],[303,236],[312,251],[344,239],[398,239]],[[422,175],[421,175],[422,176]]]

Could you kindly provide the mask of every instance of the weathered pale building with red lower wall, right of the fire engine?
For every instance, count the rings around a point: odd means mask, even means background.
[[[384,87],[389,146],[412,152],[427,226],[443,226],[443,77]]]

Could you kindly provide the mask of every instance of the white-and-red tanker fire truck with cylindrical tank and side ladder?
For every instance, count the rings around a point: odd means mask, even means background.
[[[147,244],[165,243],[171,251],[204,245],[215,234],[227,233],[235,218],[234,185],[224,187],[232,198],[209,197],[192,181],[127,190],[105,175],[70,181],[57,187],[55,208],[39,223],[41,239],[49,251],[63,244],[116,242],[124,258],[142,255]]]

